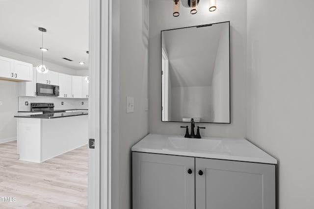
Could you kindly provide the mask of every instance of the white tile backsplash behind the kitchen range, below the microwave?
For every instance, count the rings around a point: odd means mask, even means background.
[[[26,102],[28,102],[28,105],[26,105]],[[54,110],[88,109],[88,99],[58,98],[52,96],[19,96],[19,111],[30,111],[30,103],[44,102],[54,103]]]

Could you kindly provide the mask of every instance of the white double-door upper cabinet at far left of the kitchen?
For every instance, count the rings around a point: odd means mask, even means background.
[[[31,81],[33,65],[0,56],[0,78],[13,81]]]

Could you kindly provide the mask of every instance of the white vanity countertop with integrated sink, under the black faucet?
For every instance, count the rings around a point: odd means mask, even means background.
[[[131,151],[277,164],[277,160],[248,140],[233,138],[187,139],[182,136],[149,134]]]

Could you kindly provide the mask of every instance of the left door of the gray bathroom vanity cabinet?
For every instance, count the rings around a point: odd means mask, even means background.
[[[133,152],[132,163],[133,209],[195,208],[193,157]]]

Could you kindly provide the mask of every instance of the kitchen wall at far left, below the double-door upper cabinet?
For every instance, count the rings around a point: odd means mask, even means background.
[[[18,111],[18,84],[0,80],[0,142],[16,138]],[[1,105],[2,104],[2,105]]]

